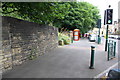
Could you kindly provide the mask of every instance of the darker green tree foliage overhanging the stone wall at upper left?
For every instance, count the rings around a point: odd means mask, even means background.
[[[55,19],[63,19],[68,7],[61,2],[3,2],[2,15],[49,24]]]

